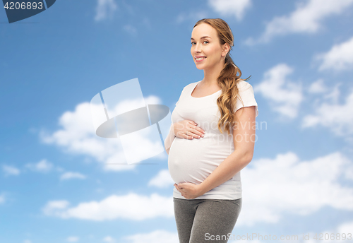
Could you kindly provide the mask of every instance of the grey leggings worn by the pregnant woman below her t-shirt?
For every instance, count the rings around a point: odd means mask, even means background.
[[[174,215],[180,243],[228,242],[237,222],[242,198],[174,198]],[[229,235],[228,235],[229,234]]]

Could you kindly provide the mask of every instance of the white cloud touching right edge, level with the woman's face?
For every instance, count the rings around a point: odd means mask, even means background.
[[[330,51],[317,54],[314,59],[321,61],[318,70],[344,71],[353,69],[353,37],[334,45]]]

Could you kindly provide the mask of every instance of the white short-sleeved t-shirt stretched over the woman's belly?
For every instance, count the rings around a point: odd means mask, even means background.
[[[169,150],[168,168],[169,174],[177,184],[181,182],[201,184],[221,162],[234,152],[232,133],[227,134],[227,131],[223,131],[223,134],[221,134],[217,127],[220,112],[216,101],[222,90],[205,97],[191,96],[194,88],[200,82],[186,85],[172,112],[172,123],[189,119],[195,121],[205,131],[204,137],[201,138],[190,140],[175,137],[172,141]],[[238,88],[244,107],[256,106],[257,117],[258,105],[253,95],[253,87],[246,81],[240,81]],[[243,105],[238,97],[237,110],[241,107]],[[174,188],[173,196],[175,198],[184,198],[176,188]],[[193,199],[202,198],[241,198],[240,172],[227,182]]]

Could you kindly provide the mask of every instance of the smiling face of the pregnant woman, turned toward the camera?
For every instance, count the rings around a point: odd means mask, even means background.
[[[225,44],[227,45],[227,43]],[[225,47],[225,45],[223,45]],[[198,69],[212,69],[213,66],[224,64],[225,55],[220,45],[217,30],[208,23],[201,23],[191,33],[191,55]],[[201,59],[196,59],[202,57]]]

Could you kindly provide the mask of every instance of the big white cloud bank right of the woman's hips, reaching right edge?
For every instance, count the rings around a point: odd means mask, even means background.
[[[340,181],[353,163],[341,153],[301,161],[292,152],[253,160],[241,170],[243,206],[237,225],[278,223],[284,214],[309,215],[330,206],[353,211],[353,188]],[[352,179],[352,178],[351,178]]]

